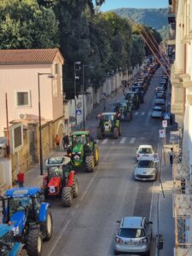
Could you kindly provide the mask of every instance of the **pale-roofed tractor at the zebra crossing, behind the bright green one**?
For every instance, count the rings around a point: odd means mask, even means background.
[[[102,139],[108,135],[117,139],[121,135],[119,117],[120,114],[115,112],[99,114],[99,126],[96,128],[97,138]]]

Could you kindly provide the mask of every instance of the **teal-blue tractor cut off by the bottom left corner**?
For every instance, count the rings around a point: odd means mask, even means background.
[[[1,256],[27,256],[23,244],[15,241],[13,226],[0,224],[0,255]]]

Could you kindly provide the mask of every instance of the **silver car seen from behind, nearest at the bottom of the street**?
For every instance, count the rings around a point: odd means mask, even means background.
[[[150,255],[152,222],[143,217],[124,217],[114,241],[114,254]]]

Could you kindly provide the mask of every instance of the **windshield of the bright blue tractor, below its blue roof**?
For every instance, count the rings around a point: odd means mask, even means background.
[[[9,218],[15,212],[25,211],[26,207],[32,205],[32,199],[29,196],[12,197],[9,199]]]

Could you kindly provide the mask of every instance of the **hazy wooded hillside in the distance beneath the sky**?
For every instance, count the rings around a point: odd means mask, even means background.
[[[124,17],[135,20],[137,23],[152,26],[157,30],[168,26],[167,13],[168,9],[132,9],[121,8],[111,10],[114,13]]]

